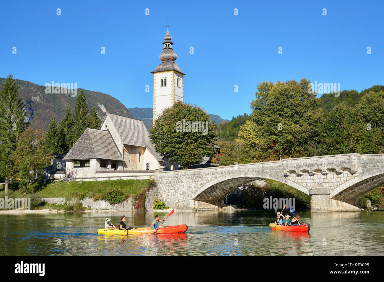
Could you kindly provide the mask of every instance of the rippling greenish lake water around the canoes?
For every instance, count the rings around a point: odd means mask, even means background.
[[[168,213],[156,212],[161,218]],[[285,213],[284,213],[285,214]],[[1,255],[382,255],[384,212],[301,213],[310,233],[271,231],[273,211],[175,211],[166,226],[183,234],[98,235],[117,213],[0,214]],[[150,226],[154,212],[124,212]],[[60,241],[58,241],[60,239]],[[60,244],[58,245],[58,243]]]

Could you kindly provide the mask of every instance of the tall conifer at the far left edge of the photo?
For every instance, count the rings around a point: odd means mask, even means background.
[[[0,92],[0,176],[5,178],[6,194],[8,194],[8,177],[14,167],[10,158],[11,153],[28,127],[23,101],[18,94],[18,85],[10,74]]]

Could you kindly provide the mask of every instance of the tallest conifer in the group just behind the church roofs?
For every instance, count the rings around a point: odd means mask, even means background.
[[[84,95],[83,90],[81,90],[76,97],[76,106],[74,108],[74,119],[73,119],[73,139],[76,142],[84,130],[89,126],[88,120],[88,104],[87,97]]]

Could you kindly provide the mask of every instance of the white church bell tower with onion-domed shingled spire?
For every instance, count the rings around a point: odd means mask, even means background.
[[[176,101],[184,102],[184,82],[179,66],[175,63],[177,55],[172,48],[172,37],[164,36],[163,51],[159,58],[161,63],[153,73],[153,121],[157,119],[164,108],[172,106]]]

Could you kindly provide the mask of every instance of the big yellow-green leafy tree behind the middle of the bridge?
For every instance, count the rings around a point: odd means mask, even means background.
[[[251,102],[250,120],[242,125],[237,141],[254,161],[305,157],[316,144],[323,111],[311,94],[310,82],[262,82]]]

